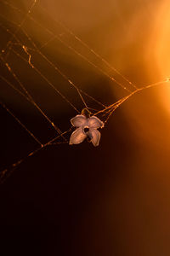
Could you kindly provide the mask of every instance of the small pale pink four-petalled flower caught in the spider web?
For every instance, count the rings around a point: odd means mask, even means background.
[[[82,143],[85,138],[89,138],[95,147],[99,146],[100,132],[97,129],[104,127],[100,119],[95,116],[87,117],[77,114],[71,119],[71,125],[77,127],[77,130],[71,134],[70,145]]]

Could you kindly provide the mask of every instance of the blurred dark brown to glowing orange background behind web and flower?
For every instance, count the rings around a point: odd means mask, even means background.
[[[133,90],[71,32],[138,87],[170,75],[169,1],[41,0],[31,9],[32,3],[1,1],[1,56],[61,131],[70,129],[77,112],[43,77],[79,111],[83,104],[77,90],[44,61],[38,49],[106,106],[128,92],[99,69]],[[14,44],[8,45],[11,39]],[[21,45],[29,49],[31,63],[40,73],[28,65],[29,55]],[[1,76],[20,89],[2,59],[0,63]],[[55,137],[47,120],[2,77],[1,101],[42,143]],[[98,148],[87,142],[54,145],[9,168],[13,172],[0,186],[1,254],[168,256],[169,99],[169,84],[141,91],[111,115]],[[88,97],[85,102],[101,109]],[[3,170],[38,145],[3,107],[0,112]]]

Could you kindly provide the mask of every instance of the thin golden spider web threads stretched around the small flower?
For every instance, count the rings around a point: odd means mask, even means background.
[[[10,8],[13,8],[15,10],[17,10],[18,12],[21,12],[23,14],[23,12],[18,9],[15,8],[11,3],[7,3],[7,1],[3,1],[3,3],[6,3],[8,6],[10,6]],[[20,166],[20,164],[30,158],[31,156],[37,154],[37,152],[40,152],[43,148],[46,148],[48,146],[51,145],[59,145],[60,143],[68,143],[67,139],[65,138],[65,135],[67,135],[68,133],[71,132],[71,129],[69,129],[68,131],[60,131],[59,127],[57,127],[56,125],[54,125],[54,122],[48,118],[48,115],[46,113],[44,113],[44,111],[42,111],[42,108],[40,108],[39,105],[37,105],[37,102],[35,102],[35,100],[33,99],[33,97],[31,96],[31,93],[26,89],[26,86],[24,86],[24,84],[22,84],[20,82],[19,76],[14,73],[13,68],[9,65],[8,61],[7,61],[7,57],[9,55],[9,53],[12,51],[14,53],[14,55],[16,55],[17,57],[20,58],[20,60],[22,61],[26,61],[26,63],[28,64],[29,67],[31,67],[35,73],[38,74],[38,76],[40,78],[42,78],[51,88],[53,88],[55,90],[55,92],[57,93],[57,95],[61,96],[63,98],[63,100],[65,102],[68,103],[68,105],[73,108],[76,113],[80,113],[80,111],[77,109],[77,107],[75,107],[72,102],[65,96],[63,95],[55,86],[53,83],[51,83],[49,81],[49,79],[43,74],[41,73],[41,71],[38,69],[38,67],[35,67],[36,65],[34,64],[32,55],[31,55],[31,51],[35,51],[39,56],[41,56],[43,58],[43,60],[47,61],[48,64],[50,65],[50,67],[53,67],[54,70],[59,73],[61,75],[61,77],[63,77],[65,79],[65,81],[67,81],[68,84],[71,85],[72,88],[74,88],[75,90],[77,90],[77,95],[80,97],[83,107],[88,108],[88,109],[92,109],[94,111],[94,115],[99,115],[99,114],[105,114],[105,117],[107,115],[107,117],[105,118],[104,122],[105,124],[108,122],[108,120],[110,119],[111,115],[116,111],[117,108],[119,108],[120,106],[122,106],[123,102],[127,102],[127,100],[129,100],[131,98],[131,96],[134,96],[135,94],[139,93],[142,90],[146,90],[146,89],[150,89],[154,86],[157,85],[161,85],[161,84],[167,84],[170,82],[169,78],[162,80],[158,83],[155,84],[148,84],[146,86],[143,86],[141,88],[137,88],[137,86],[135,84],[133,84],[131,81],[129,81],[125,76],[122,75],[122,73],[118,72],[116,70],[115,67],[112,67],[111,64],[108,61],[105,61],[105,59],[100,56],[98,53],[96,53],[94,51],[94,49],[91,49],[88,44],[84,43],[82,41],[81,38],[78,38],[77,35],[75,35],[73,32],[71,32],[71,30],[63,25],[60,21],[55,20],[55,22],[57,22],[57,24],[59,24],[59,26],[61,26],[65,32],[69,33],[73,38],[75,38],[77,40],[77,42],[79,42],[80,44],[82,44],[86,49],[89,50],[89,52],[91,52],[93,55],[95,55],[99,61],[102,61],[103,63],[105,63],[105,65],[107,67],[109,67],[113,72],[117,73],[120,77],[122,77],[122,79],[124,79],[124,81],[126,81],[130,86],[133,87],[133,91],[128,90],[126,86],[124,86],[123,84],[118,84],[120,85],[124,90],[128,91],[128,95],[122,97],[120,100],[118,100],[117,102],[114,102],[113,104],[111,104],[110,106],[105,106],[105,104],[103,104],[102,102],[99,102],[98,100],[96,100],[94,97],[89,96],[88,93],[86,93],[85,91],[83,91],[81,88],[79,88],[79,86],[77,86],[75,83],[73,83],[71,81],[71,79],[65,74],[63,73],[59,67],[57,67],[56,65],[54,65],[54,63],[52,61],[50,61],[48,59],[48,57],[44,54],[42,54],[42,48],[45,47],[46,45],[49,44],[49,42],[51,42],[52,40],[54,40],[55,38],[59,40],[60,43],[64,44],[68,49],[71,49],[71,51],[75,54],[75,55],[79,55],[83,60],[87,61],[91,66],[95,67],[96,69],[99,70],[99,73],[103,73],[105,74],[107,77],[109,77],[114,83],[117,84],[116,79],[114,79],[112,76],[110,76],[108,73],[105,73],[105,71],[103,71],[101,68],[99,68],[97,65],[94,64],[94,62],[89,61],[88,57],[86,57],[85,55],[82,55],[77,49],[74,49],[73,47],[71,47],[70,44],[65,43],[65,41],[62,39],[62,34],[57,36],[54,34],[54,32],[51,32],[50,30],[48,30],[47,27],[42,26],[40,23],[37,22],[37,20],[35,20],[33,17],[31,17],[31,11],[32,9],[35,7],[37,3],[37,0],[34,0],[31,4],[30,9],[27,11],[24,19],[20,22],[20,24],[16,24],[14,22],[11,22],[10,20],[8,20],[9,22],[13,23],[14,26],[16,26],[17,28],[14,30],[14,32],[11,32],[8,28],[6,28],[5,26],[1,25],[3,27],[3,29],[6,29],[6,31],[11,35],[11,38],[9,39],[8,43],[6,44],[5,48],[3,48],[2,54],[0,55],[0,59],[3,62],[4,67],[7,68],[8,72],[12,74],[14,80],[17,82],[17,84],[20,85],[20,90],[17,89],[13,84],[11,84],[8,79],[3,78],[2,75],[0,75],[0,78],[3,80],[3,82],[5,82],[6,84],[8,84],[11,88],[13,88],[13,90],[15,90],[18,94],[20,94],[21,96],[23,96],[26,101],[30,102],[35,108],[37,108],[38,112],[42,114],[42,116],[48,120],[48,123],[50,125],[52,125],[55,129],[55,131],[57,131],[59,133],[59,135],[57,135],[56,137],[54,137],[53,139],[49,140],[48,143],[44,143],[42,144],[40,142],[40,140],[29,130],[27,129],[26,125],[24,125],[20,119],[18,119],[18,117],[15,116],[15,114],[6,106],[6,104],[4,104],[3,102],[0,102],[0,104],[2,105],[2,107],[4,109],[6,109],[6,111],[15,119],[15,121],[17,121],[19,123],[20,126],[22,126],[22,128],[29,134],[29,136],[32,137],[32,139],[34,139],[34,141],[36,141],[39,145],[39,147],[33,151],[31,151],[29,154],[26,155],[25,158],[22,158],[18,161],[16,161],[13,165],[8,166],[7,168],[5,168],[3,171],[0,172],[0,181],[4,181],[13,171],[17,166]],[[39,5],[41,7],[41,5]],[[42,8],[42,7],[41,7]],[[43,8],[42,8],[43,9]],[[43,11],[45,11],[47,14],[47,10],[43,9]],[[49,15],[49,14],[48,14]],[[1,15],[3,16],[3,15]],[[7,20],[5,17],[3,17],[3,19]],[[45,44],[42,44],[41,47],[37,47],[37,44],[35,44],[35,42],[33,41],[33,39],[31,38],[31,36],[26,32],[26,30],[23,28],[25,22],[27,19],[32,20],[33,22],[36,22],[38,26],[41,26],[44,30],[46,30],[51,36],[52,38],[50,40],[48,40]],[[54,20],[54,19],[53,19]],[[17,38],[17,33],[18,32],[23,32],[26,35],[27,40],[31,43],[32,48],[29,48],[26,44],[23,44],[22,42],[20,42],[20,39]],[[16,42],[14,42],[14,40]],[[23,57],[22,55],[20,55],[19,52],[17,52],[15,49],[13,49],[14,45],[20,45],[22,52],[24,54],[26,54],[27,58]],[[119,83],[119,82],[118,82]],[[85,97],[87,96],[89,99],[93,100],[94,102],[99,103],[99,105],[102,107],[101,110],[96,110],[94,108],[90,108],[88,106],[88,102],[85,101]],[[92,106],[93,107],[93,106]],[[64,141],[63,142],[59,142],[57,141],[58,139],[63,138]]]

